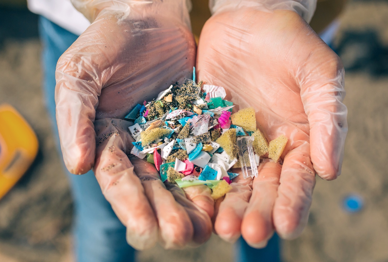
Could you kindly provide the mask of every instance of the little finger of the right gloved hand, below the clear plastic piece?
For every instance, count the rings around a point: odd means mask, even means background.
[[[241,222],[249,198],[252,194],[253,179],[243,179],[239,175],[236,182],[230,183],[232,189],[219,204],[214,230],[225,241],[235,242],[241,236]]]

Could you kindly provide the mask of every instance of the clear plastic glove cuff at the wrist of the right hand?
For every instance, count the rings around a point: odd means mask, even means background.
[[[317,7],[317,0],[209,0],[209,7],[212,14],[242,7],[255,8],[265,12],[278,9],[291,10],[310,23]]]

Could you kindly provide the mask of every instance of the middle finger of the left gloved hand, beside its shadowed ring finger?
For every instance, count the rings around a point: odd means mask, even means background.
[[[193,237],[193,226],[185,208],[159,179],[155,166],[139,158],[132,158],[135,172],[142,181],[145,194],[158,218],[159,240],[166,249],[183,248]]]

